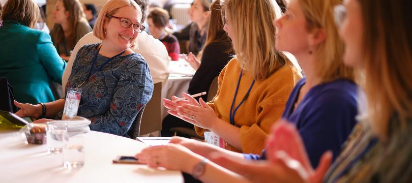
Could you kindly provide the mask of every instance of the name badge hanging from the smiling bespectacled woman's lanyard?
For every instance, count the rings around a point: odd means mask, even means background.
[[[77,116],[81,99],[81,88],[69,88],[67,91],[65,108],[62,120],[68,120]]]

